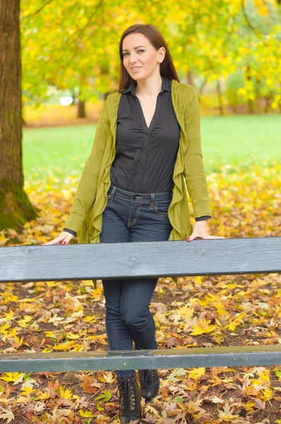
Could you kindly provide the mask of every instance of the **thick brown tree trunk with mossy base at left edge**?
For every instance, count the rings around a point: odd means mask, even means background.
[[[36,218],[23,191],[20,0],[0,1],[0,230]]]

